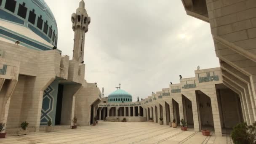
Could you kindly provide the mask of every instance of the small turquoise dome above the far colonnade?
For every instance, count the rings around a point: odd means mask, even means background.
[[[109,103],[123,103],[123,102],[131,102],[133,101],[133,98],[130,93],[124,91],[124,90],[116,90],[109,94],[107,97],[107,101]]]

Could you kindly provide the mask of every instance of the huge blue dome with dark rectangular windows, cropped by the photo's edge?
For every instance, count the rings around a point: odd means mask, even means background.
[[[45,51],[57,46],[58,28],[44,0],[0,0],[0,35]]]

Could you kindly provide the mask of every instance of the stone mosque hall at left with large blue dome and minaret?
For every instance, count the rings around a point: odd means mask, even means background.
[[[69,128],[73,117],[79,125],[93,123],[101,91],[84,79],[91,19],[83,0],[71,22],[75,35],[69,58],[57,48],[57,22],[44,0],[0,0],[0,123],[6,133],[23,121],[29,131],[44,131],[49,120]]]

